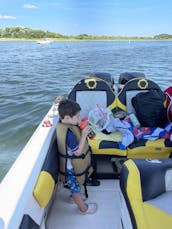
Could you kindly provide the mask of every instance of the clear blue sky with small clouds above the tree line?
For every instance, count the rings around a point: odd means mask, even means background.
[[[0,28],[63,35],[172,34],[172,0],[0,0]]]

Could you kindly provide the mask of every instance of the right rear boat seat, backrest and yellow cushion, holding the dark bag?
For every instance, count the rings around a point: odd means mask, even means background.
[[[129,80],[116,97],[116,112],[125,111],[127,113],[134,112],[131,100],[140,92],[149,90],[159,90],[160,87],[152,80],[146,78],[135,78]],[[164,96],[165,103],[165,95]],[[172,142],[165,139],[145,140],[140,139],[133,142],[127,147],[128,158],[168,158],[172,153]]]

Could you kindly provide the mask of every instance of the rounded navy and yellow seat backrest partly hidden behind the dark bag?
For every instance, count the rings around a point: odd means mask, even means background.
[[[144,93],[149,90],[161,90],[160,87],[152,80],[145,78],[135,78],[129,80],[116,98],[118,109],[124,110],[127,113],[135,112],[132,105],[132,98],[138,93]]]

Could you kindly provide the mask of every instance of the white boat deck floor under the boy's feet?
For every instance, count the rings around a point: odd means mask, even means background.
[[[88,186],[87,203],[95,202],[93,215],[82,215],[69,201],[69,190],[58,189],[46,223],[47,229],[122,229],[118,180],[101,180],[100,186]]]

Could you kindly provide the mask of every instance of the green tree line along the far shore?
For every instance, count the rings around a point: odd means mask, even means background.
[[[43,39],[43,38],[53,38],[53,39],[77,39],[77,40],[144,40],[144,39],[172,39],[172,35],[169,34],[159,34],[154,37],[124,37],[124,36],[92,36],[88,34],[80,34],[77,36],[66,36],[60,33],[53,33],[49,31],[43,31],[39,29],[31,29],[25,27],[7,27],[0,29],[0,38],[9,39]]]

